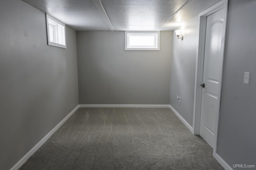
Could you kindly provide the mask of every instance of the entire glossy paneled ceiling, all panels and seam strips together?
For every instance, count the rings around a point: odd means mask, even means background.
[[[176,29],[220,0],[23,1],[77,31],[165,31]]]

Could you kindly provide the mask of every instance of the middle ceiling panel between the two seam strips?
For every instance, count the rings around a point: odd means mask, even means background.
[[[187,0],[102,0],[116,31],[156,31]]]

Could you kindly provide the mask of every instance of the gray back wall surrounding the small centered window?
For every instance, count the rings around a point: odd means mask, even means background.
[[[169,104],[172,31],[160,51],[124,51],[124,31],[78,31],[79,104]]]

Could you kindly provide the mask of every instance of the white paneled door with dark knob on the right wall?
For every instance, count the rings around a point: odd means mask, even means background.
[[[218,88],[222,68],[221,43],[224,9],[207,16],[204,49],[204,72],[200,117],[200,136],[213,148],[216,116],[218,113]]]

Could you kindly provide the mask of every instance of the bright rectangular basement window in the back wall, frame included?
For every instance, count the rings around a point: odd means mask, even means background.
[[[159,51],[160,31],[125,31],[125,50]]]

